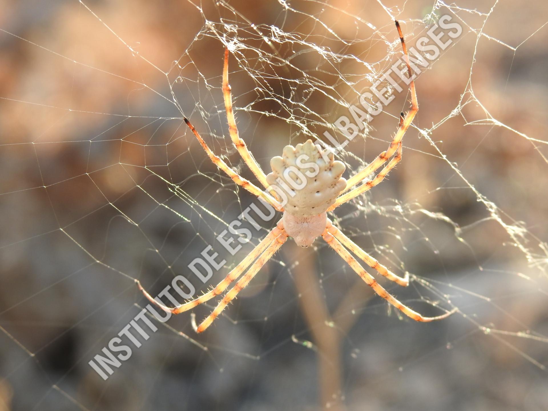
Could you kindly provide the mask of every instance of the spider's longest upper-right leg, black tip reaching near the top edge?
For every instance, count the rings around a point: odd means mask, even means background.
[[[399,39],[402,42],[402,48],[403,48],[403,54],[404,59],[406,61],[407,65],[407,71],[409,74],[409,78],[412,79],[409,84],[409,90],[411,92],[411,107],[409,111],[407,112],[406,116],[400,117],[399,121],[399,129],[392,139],[392,142],[390,143],[390,146],[388,147],[388,150],[383,151],[379,154],[377,158],[375,158],[371,163],[369,163],[361,172],[353,175],[347,182],[346,182],[346,190],[350,190],[351,187],[358,184],[358,182],[362,181],[363,179],[366,179],[371,173],[373,173],[375,170],[377,170],[381,165],[383,165],[392,155],[396,152],[398,146],[401,144],[403,135],[406,134],[407,129],[409,128],[409,125],[413,121],[413,118],[416,115],[416,112],[419,111],[419,102],[416,99],[416,91],[415,91],[415,82],[413,81],[413,75],[411,72],[411,65],[409,64],[409,55],[407,54],[407,46],[406,42],[403,38],[402,29],[399,27],[399,22],[396,20],[396,27],[398,29]],[[350,198],[349,198],[350,199]]]

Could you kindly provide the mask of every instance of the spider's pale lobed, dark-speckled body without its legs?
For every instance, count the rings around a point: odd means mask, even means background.
[[[326,229],[327,209],[346,188],[343,162],[332,152],[307,140],[296,147],[288,145],[282,157],[270,161],[272,173],[266,176],[271,187],[284,187],[282,196],[273,195],[283,203],[283,227],[295,243],[309,247]]]

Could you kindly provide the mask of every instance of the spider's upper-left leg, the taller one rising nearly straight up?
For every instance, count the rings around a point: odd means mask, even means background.
[[[229,48],[225,49],[225,64],[222,67],[222,95],[225,99],[226,119],[229,122],[230,138],[233,144],[238,149],[243,161],[246,162],[249,169],[255,174],[255,177],[261,182],[261,184],[267,189],[270,184],[266,181],[266,175],[262,171],[259,163],[255,161],[252,153],[248,150],[246,142],[239,138],[238,127],[236,126],[236,119],[234,118],[234,111],[232,110],[232,93],[229,84]]]

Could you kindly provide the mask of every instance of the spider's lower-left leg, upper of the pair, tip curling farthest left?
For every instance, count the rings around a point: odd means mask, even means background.
[[[215,296],[222,293],[226,288],[232,283],[236,278],[242,275],[242,272],[244,272],[247,267],[260,255],[264,252],[264,250],[272,244],[273,241],[276,241],[276,237],[281,235],[283,232],[283,225],[282,221],[280,220],[278,222],[278,225],[270,232],[268,235],[262,239],[262,241],[257,244],[257,246],[250,252],[246,258],[244,258],[236,267],[234,267],[227,276],[215,286],[213,290],[210,290],[209,292],[199,296],[196,299],[193,299],[191,301],[185,302],[184,304],[181,304],[179,306],[170,308],[165,305],[163,305],[159,299],[155,300],[152,298],[152,296],[146,292],[144,288],[142,288],[141,283],[139,280],[136,280],[137,286],[141,290],[141,292],[145,295],[145,297],[152,302],[152,304],[160,307],[165,312],[171,312],[172,314],[179,314],[183,311],[191,310],[194,307],[196,307],[199,304],[202,304],[203,302],[206,302]]]

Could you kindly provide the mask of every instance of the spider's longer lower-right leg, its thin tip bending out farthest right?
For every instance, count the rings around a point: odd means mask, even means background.
[[[338,239],[333,237],[329,233],[329,230],[326,229],[326,231],[322,234],[323,239],[329,244],[331,248],[333,248],[337,254],[339,254],[350,267],[352,267],[352,270],[356,271],[358,276],[360,276],[363,281],[367,283],[367,285],[375,291],[376,294],[378,294],[380,297],[384,298],[386,301],[388,301],[390,304],[395,306],[398,310],[402,311],[406,316],[413,318],[415,321],[420,322],[430,322],[435,321],[437,319],[443,319],[446,317],[449,317],[454,312],[457,311],[457,309],[453,309],[451,311],[447,311],[446,313],[436,316],[436,317],[424,317],[420,315],[418,312],[410,309],[408,306],[403,305],[401,302],[399,302],[392,294],[387,292],[383,286],[381,286],[376,280],[366,271],[363,269],[362,265],[359,264],[358,261],[356,261],[355,258],[344,248],[343,244],[339,242]]]

